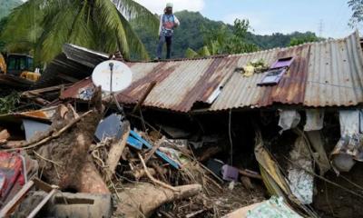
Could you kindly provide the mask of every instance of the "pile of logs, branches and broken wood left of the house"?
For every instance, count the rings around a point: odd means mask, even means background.
[[[3,163],[13,163],[1,170],[14,174],[1,174],[2,215],[220,217],[265,200],[259,173],[198,161],[216,154],[215,147],[197,156],[187,140],[132,130],[122,114],[104,110],[101,90],[88,106],[76,112],[58,104],[0,118]]]

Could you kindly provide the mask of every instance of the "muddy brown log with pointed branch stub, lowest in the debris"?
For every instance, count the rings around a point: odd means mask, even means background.
[[[121,199],[115,216],[130,218],[150,217],[164,203],[189,198],[201,193],[201,184],[190,184],[174,187],[178,192],[154,186],[151,183],[138,183],[125,187],[118,193]]]

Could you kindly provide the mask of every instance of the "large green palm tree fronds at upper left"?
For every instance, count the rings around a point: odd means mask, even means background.
[[[60,54],[64,43],[147,59],[129,20],[156,32],[157,17],[132,0],[28,0],[9,15],[1,37],[8,51],[28,50],[44,63]]]

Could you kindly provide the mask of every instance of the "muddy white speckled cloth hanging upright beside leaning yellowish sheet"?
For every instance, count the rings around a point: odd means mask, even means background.
[[[312,158],[309,153],[308,144],[300,136],[289,153],[289,187],[291,192],[301,203],[310,204],[313,198],[314,176],[307,173],[314,172]]]

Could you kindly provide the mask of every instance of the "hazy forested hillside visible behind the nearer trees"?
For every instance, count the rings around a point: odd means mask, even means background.
[[[203,39],[201,35],[201,26],[206,28],[218,28],[223,25],[222,22],[210,20],[202,16],[199,12],[189,12],[182,11],[177,12],[175,15],[181,21],[181,26],[175,30],[173,45],[172,45],[172,56],[173,57],[183,57],[187,48],[192,48],[193,50],[198,50],[203,45]],[[228,27],[233,30],[232,25]],[[253,26],[252,26],[253,28]],[[146,49],[151,54],[151,57],[155,57],[156,46],[158,43],[158,38],[156,33],[152,33],[146,28],[136,26],[136,33],[141,38]],[[289,45],[290,39],[292,37],[299,37],[303,35],[315,35],[311,32],[299,33],[295,32],[289,35],[283,34],[273,34],[273,35],[254,35],[249,33],[247,35],[247,40],[250,43],[258,45],[261,50],[270,49],[274,47],[286,47]]]

